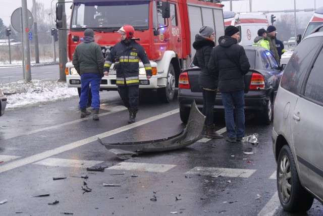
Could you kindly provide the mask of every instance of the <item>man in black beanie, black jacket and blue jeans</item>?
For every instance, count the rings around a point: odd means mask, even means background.
[[[208,69],[219,79],[228,142],[241,141],[245,135],[243,76],[248,73],[250,64],[243,46],[237,44],[239,38],[239,29],[228,26],[225,35],[219,38],[219,45],[213,48],[208,62]]]

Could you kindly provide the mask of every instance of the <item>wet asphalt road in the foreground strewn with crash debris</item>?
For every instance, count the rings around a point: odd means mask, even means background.
[[[179,133],[185,125],[177,98],[165,104],[154,93],[142,96],[136,123],[129,125],[117,92],[100,96],[99,121],[80,119],[77,97],[8,110],[1,117],[0,202],[8,200],[0,204],[2,215],[323,214],[316,200],[307,214],[280,206],[272,125],[247,117],[246,134],[257,133],[257,145],[204,138],[182,149],[122,160],[96,139],[145,141]],[[223,115],[217,117],[217,130],[226,136]],[[86,171],[98,167],[107,168]],[[58,177],[66,179],[53,180]]]

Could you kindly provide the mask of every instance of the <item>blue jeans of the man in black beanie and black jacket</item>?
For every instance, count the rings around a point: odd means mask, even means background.
[[[244,137],[244,90],[221,92],[221,95],[225,109],[225,119],[228,137]],[[236,114],[236,120],[234,120],[234,111]]]

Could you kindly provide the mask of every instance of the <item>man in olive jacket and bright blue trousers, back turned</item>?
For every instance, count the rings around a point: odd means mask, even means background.
[[[82,40],[82,38],[81,38]],[[83,42],[75,48],[72,61],[77,73],[81,76],[80,110],[81,118],[90,115],[86,111],[91,84],[93,120],[99,120],[100,109],[100,83],[103,75],[104,57],[99,44],[94,42],[94,31],[84,31]]]

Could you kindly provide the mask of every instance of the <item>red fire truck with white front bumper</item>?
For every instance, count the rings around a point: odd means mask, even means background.
[[[217,2],[217,3],[216,3]],[[140,88],[156,89],[165,102],[173,100],[181,71],[188,66],[195,50],[192,43],[201,26],[216,30],[216,41],[224,35],[223,5],[217,0],[73,0],[68,33],[68,58],[82,42],[84,30],[95,31],[95,41],[106,56],[121,40],[117,31],[125,24],[135,28],[135,37],[146,50],[153,76],[146,79],[140,63]],[[63,3],[64,4],[64,3]],[[62,29],[63,6],[57,5],[57,28]],[[71,62],[66,64],[69,87],[80,88],[80,76]],[[100,90],[117,90],[116,72],[111,66]]]

